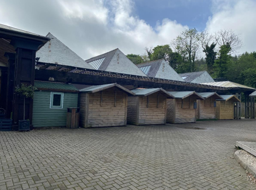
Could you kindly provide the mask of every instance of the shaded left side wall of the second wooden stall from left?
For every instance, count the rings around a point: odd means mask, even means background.
[[[138,125],[138,113],[139,113],[139,97],[128,96],[127,123],[132,125]]]

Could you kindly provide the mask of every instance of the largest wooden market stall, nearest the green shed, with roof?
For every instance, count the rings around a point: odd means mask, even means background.
[[[125,126],[127,96],[135,95],[117,83],[86,87],[80,90],[80,126]]]

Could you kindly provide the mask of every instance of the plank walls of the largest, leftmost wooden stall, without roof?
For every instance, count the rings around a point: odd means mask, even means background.
[[[116,98],[115,91],[117,93]],[[81,96],[84,96],[83,94],[87,93],[81,93]],[[89,101],[89,106],[87,108],[88,114],[85,111],[86,106],[81,106],[81,104],[83,104],[82,102],[79,104],[80,108],[83,109],[81,110],[81,120],[85,120],[84,125],[81,126],[89,128],[126,125],[127,99],[127,94],[116,87],[108,88],[102,91],[102,102],[101,92],[96,92],[94,94],[89,93],[86,101],[87,104]],[[82,98],[80,100],[82,100]],[[84,112],[84,116],[82,112]],[[87,121],[86,117],[88,117]]]

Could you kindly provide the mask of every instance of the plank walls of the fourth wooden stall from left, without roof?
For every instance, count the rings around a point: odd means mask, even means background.
[[[197,100],[197,119],[215,119],[216,107],[214,107],[215,98],[207,98],[205,100]]]

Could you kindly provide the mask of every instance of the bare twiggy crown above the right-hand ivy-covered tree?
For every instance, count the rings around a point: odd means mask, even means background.
[[[233,30],[220,30],[215,33],[215,40],[219,47],[230,46],[230,52],[237,52],[243,47],[241,38]]]

